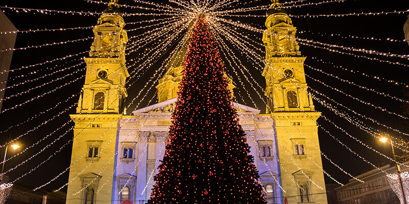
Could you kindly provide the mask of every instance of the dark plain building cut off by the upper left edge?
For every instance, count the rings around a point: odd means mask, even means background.
[[[7,18],[6,14],[0,10],[0,32],[17,31],[13,23]],[[14,48],[17,33],[0,34],[0,50]],[[9,77],[11,58],[13,57],[13,50],[0,52],[0,111],[2,110],[4,92]]]

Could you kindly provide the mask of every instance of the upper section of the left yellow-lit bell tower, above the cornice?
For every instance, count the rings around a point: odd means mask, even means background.
[[[125,89],[129,77],[125,67],[125,45],[128,36],[124,19],[115,1],[108,4],[94,28],[94,42],[85,58],[87,65],[83,94],[77,113],[122,113],[128,96]]]

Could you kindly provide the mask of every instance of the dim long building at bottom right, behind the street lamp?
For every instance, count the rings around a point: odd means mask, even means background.
[[[406,163],[407,164],[407,163]],[[406,167],[401,167],[402,172],[408,171]],[[396,173],[394,165],[380,167],[383,171]],[[393,192],[388,183],[387,175],[379,169],[373,169],[366,173],[355,176],[364,181],[360,183],[355,179],[350,179],[349,183],[335,188],[336,197],[339,204],[400,204],[398,196]],[[331,202],[328,202],[331,203]]]

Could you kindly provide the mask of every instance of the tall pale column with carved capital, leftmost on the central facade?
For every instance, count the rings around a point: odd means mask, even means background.
[[[140,132],[138,142],[138,167],[137,167],[137,195],[135,201],[145,200],[146,193],[142,193],[146,185],[146,156],[148,155],[148,139],[150,132]]]

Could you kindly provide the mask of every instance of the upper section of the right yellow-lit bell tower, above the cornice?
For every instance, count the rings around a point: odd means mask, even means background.
[[[263,34],[266,48],[267,113],[278,111],[314,111],[305,82],[304,61],[296,41],[297,28],[275,0],[267,12]]]

